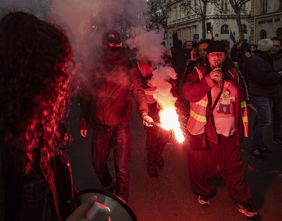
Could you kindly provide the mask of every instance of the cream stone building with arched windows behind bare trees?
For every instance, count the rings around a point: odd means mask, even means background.
[[[191,13],[191,10],[188,12],[185,8],[182,8],[182,2],[182,0],[175,0],[170,4],[170,14],[167,19],[167,33],[164,36],[167,47],[172,47],[172,27],[175,23],[179,28],[177,31],[179,39],[198,41],[202,38],[201,18],[195,13]],[[250,33],[250,9],[251,3],[248,2],[244,5],[243,10],[241,10],[244,36],[245,40],[248,42]],[[232,33],[235,34],[234,37],[236,41],[239,41],[235,13],[231,8],[229,0],[222,0],[221,5],[217,7],[215,7],[213,3],[208,3],[205,23],[207,22],[211,22],[212,24],[213,37],[215,40],[227,40],[231,29]],[[211,39],[212,34],[206,33],[206,38]]]

